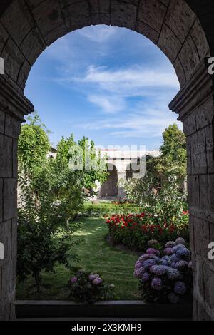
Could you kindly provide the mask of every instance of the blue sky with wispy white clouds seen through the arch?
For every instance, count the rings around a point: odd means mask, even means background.
[[[56,145],[83,135],[96,145],[161,145],[177,115],[168,103],[179,90],[168,58],[128,29],[90,26],[58,39],[37,59],[26,83]],[[179,127],[181,128],[181,124]]]

